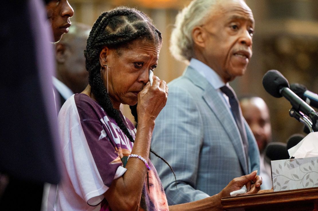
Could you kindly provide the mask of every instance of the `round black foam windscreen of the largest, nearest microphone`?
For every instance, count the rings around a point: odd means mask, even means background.
[[[274,97],[281,97],[280,89],[289,88],[287,79],[277,70],[268,70],[263,77],[263,86],[265,90]]]

